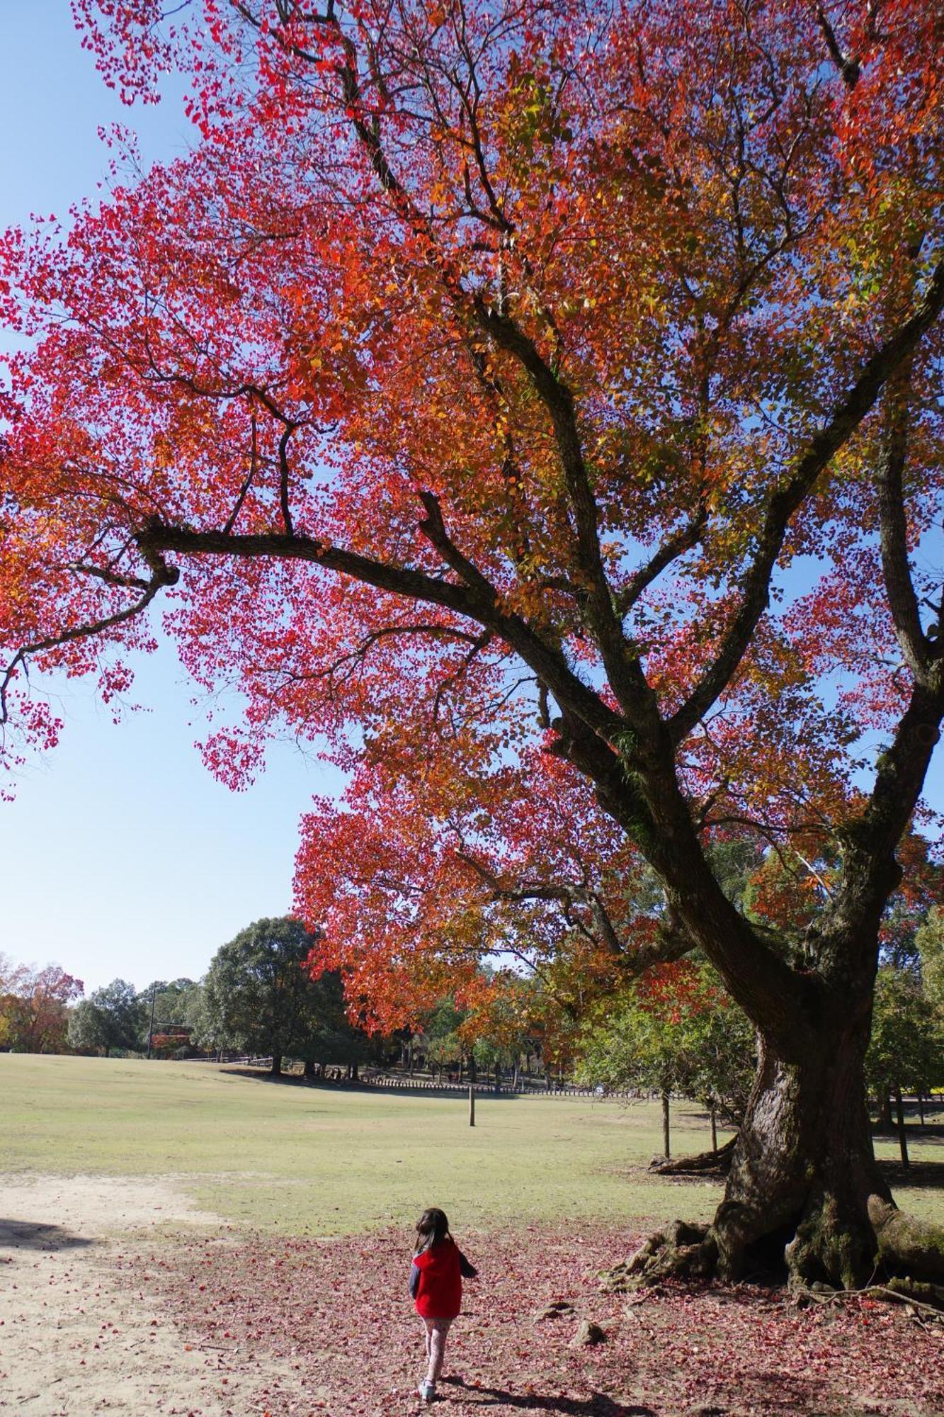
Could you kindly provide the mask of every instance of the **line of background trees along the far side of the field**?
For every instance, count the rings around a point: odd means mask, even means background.
[[[733,888],[744,888],[744,879]],[[584,1015],[557,1007],[537,976],[505,979],[488,1015],[445,993],[411,1029],[370,1034],[352,1023],[339,973],[312,978],[316,937],[288,917],[258,920],[223,945],[201,981],[154,979],[136,990],[113,979],[82,999],[82,982],[58,965],[37,969],[0,962],[0,1047],[28,1053],[146,1051],[187,1057],[232,1051],[286,1058],[306,1076],[326,1067],[357,1077],[366,1063],[424,1068],[438,1081],[476,1081],[556,1066],[601,1091],[638,1088],[662,1101],[663,1152],[670,1156],[670,1101],[707,1111],[712,1151],[693,1163],[723,1165],[731,1142],[717,1145],[717,1124],[741,1125],[755,1070],[755,1033],[706,959],[631,981],[617,1003],[598,1000]],[[492,973],[492,978],[489,978]],[[493,972],[485,971],[488,983]],[[498,998],[498,1003],[496,1003]],[[877,1125],[897,1131],[909,1165],[904,1097],[924,1102],[944,1087],[944,908],[931,907],[889,935],[879,969],[866,1078]]]

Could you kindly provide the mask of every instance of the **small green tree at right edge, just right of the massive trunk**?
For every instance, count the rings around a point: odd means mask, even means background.
[[[866,1080],[887,1112],[894,1098],[901,1163],[909,1165],[904,1093],[923,1093],[944,1083],[944,1026],[934,1002],[910,969],[879,969],[872,1015]]]

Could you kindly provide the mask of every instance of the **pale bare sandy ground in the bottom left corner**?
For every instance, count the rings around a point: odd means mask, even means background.
[[[220,1226],[169,1178],[0,1178],[0,1413],[261,1417],[266,1389],[302,1399],[295,1365],[190,1345],[129,1287],[169,1221]]]

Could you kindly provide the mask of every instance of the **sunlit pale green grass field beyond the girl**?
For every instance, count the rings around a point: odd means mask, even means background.
[[[271,1083],[215,1064],[0,1054],[0,1169],[174,1176],[240,1229],[349,1234],[444,1204],[456,1229],[505,1220],[707,1219],[713,1182],[661,1180],[656,1105],[587,1098],[461,1098]],[[941,1118],[934,1118],[940,1121]],[[896,1192],[944,1219],[938,1136],[913,1131],[921,1186]],[[703,1151],[707,1121],[673,1107],[673,1151]],[[879,1155],[897,1148],[879,1142]],[[944,1165],[941,1165],[944,1178]]]

